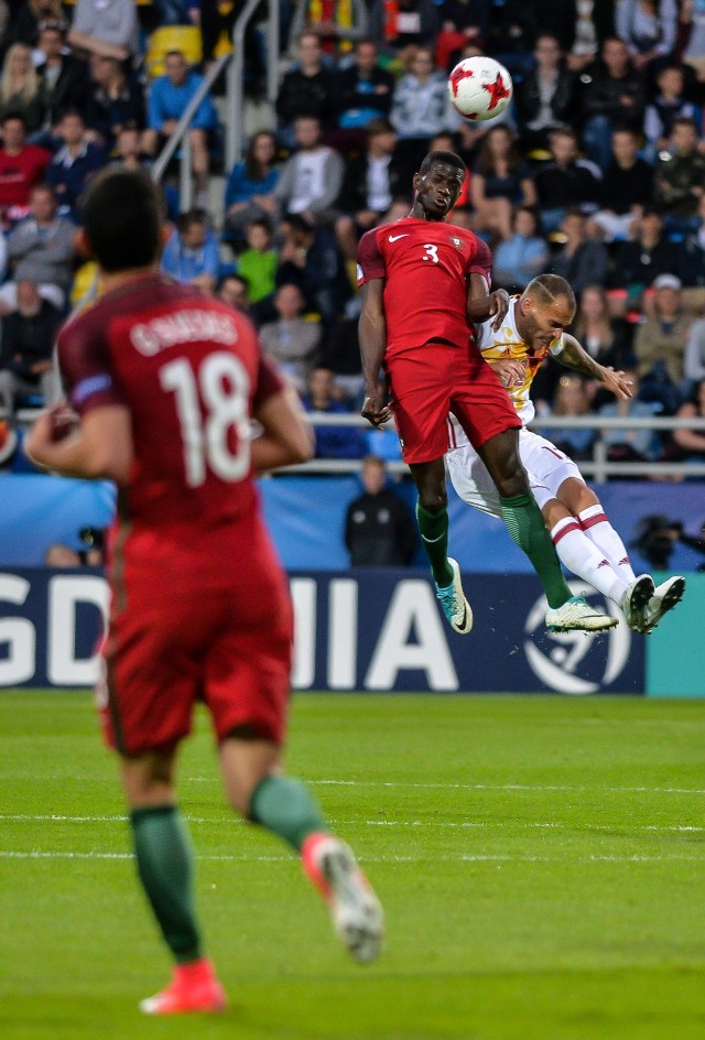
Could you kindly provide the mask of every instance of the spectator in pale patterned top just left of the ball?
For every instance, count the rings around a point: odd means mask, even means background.
[[[398,80],[390,119],[397,131],[400,174],[410,182],[438,130],[455,122],[446,75],[435,68],[431,47],[416,47],[409,71]]]

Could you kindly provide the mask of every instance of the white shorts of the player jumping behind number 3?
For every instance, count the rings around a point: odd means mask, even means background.
[[[552,498],[557,498],[558,488],[568,477],[585,483],[572,458],[560,452],[551,441],[540,437],[538,433],[531,433],[523,426],[519,431],[519,455],[541,509]],[[453,487],[463,501],[501,519],[499,494],[485,463],[471,444],[446,452],[445,465]]]

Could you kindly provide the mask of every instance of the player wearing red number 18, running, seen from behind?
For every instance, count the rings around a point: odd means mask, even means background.
[[[203,955],[175,794],[177,747],[198,700],[235,809],[301,853],[357,960],[372,960],[381,942],[381,908],[352,853],[306,788],[281,773],[292,609],[252,476],[307,458],[311,432],[247,318],[160,275],[148,174],[100,174],[84,217],[104,295],[58,338],[78,424],[66,434],[59,413],[46,412],[28,451],[56,473],[118,485],[101,714],[140,880],[176,962],[171,984],[141,1007],[218,1010],[226,998]],[[251,419],[263,431],[254,440]]]

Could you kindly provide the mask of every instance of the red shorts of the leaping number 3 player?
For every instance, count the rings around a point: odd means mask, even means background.
[[[431,343],[388,361],[397,431],[405,463],[430,463],[448,447],[448,412],[473,447],[521,426],[507,390],[474,345]]]

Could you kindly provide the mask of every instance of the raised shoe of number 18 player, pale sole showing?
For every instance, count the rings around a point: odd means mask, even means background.
[[[384,913],[349,846],[333,835],[316,836],[304,868],[328,903],[346,950],[360,964],[375,961],[382,946]]]

